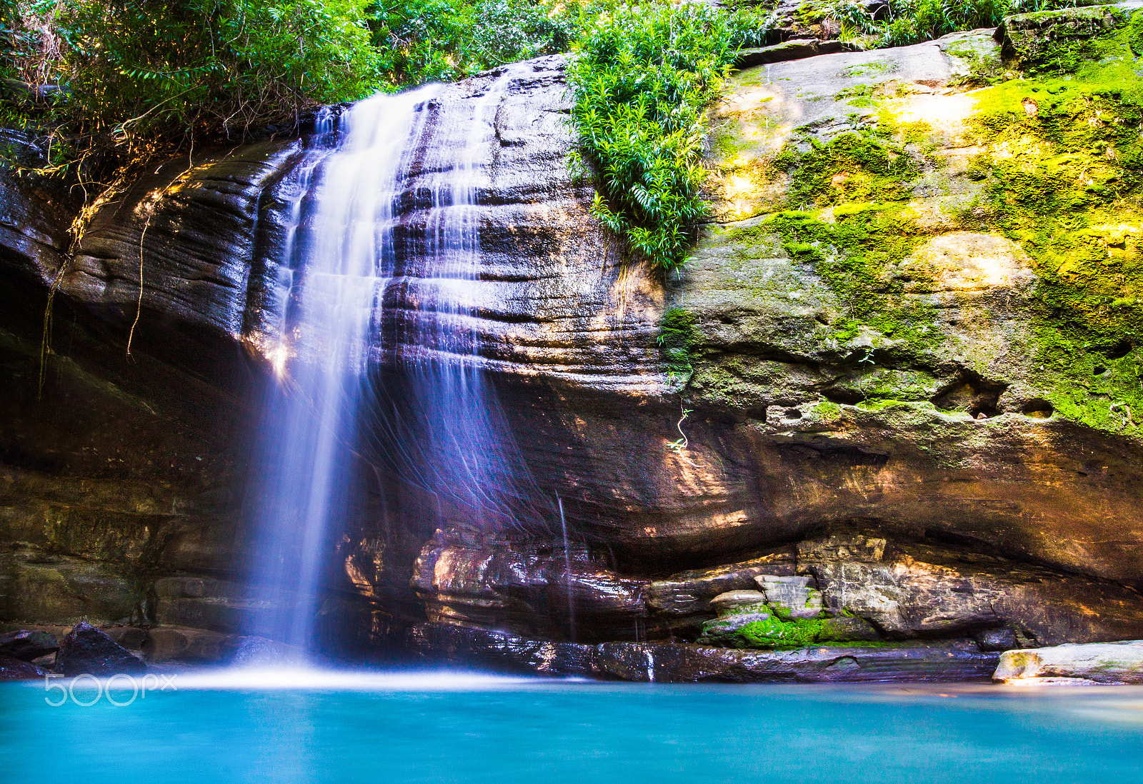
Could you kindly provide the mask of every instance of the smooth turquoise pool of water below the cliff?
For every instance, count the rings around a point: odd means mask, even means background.
[[[65,769],[87,784],[1137,784],[1143,774],[1136,688],[665,686],[432,672],[184,673],[175,682],[177,691],[125,707],[105,698],[49,707],[42,683],[0,685],[0,782]],[[126,702],[130,690],[115,696]]]

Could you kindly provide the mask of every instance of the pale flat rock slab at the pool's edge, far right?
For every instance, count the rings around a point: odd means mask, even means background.
[[[1008,650],[1000,656],[992,679],[1006,683],[1143,683],[1143,640]]]

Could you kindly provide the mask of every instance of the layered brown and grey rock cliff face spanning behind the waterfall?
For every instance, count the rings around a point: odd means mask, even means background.
[[[366,417],[370,491],[330,553],[323,614],[344,633],[328,645],[616,678],[861,680],[989,674],[1002,648],[1143,637],[1143,349],[1111,304],[1140,296],[1143,217],[1120,200],[1114,224],[1085,218],[1072,255],[1088,266],[1061,273],[1033,241],[1054,218],[1013,213],[1004,192],[1013,150],[1032,174],[1030,151],[1057,154],[1034,123],[1063,99],[1055,82],[983,87],[999,58],[986,31],[737,72],[716,109],[713,219],[669,281],[624,264],[588,213],[561,58],[422,106],[408,237],[456,146],[437,119],[502,90],[478,161],[472,328],[527,466],[519,493],[542,512],[489,529],[438,503],[389,470],[393,445]],[[1088,122],[1078,111],[1069,121]],[[320,158],[303,138],[171,161],[75,248],[66,193],[2,183],[0,622],[239,631],[254,607],[243,433],[281,323],[283,237]],[[1092,193],[1088,213],[1112,200]],[[418,296],[439,281],[403,251],[373,369],[398,408],[416,347],[397,326],[439,318]],[[1047,295],[1104,270],[1110,326],[1045,326],[1074,318]],[[824,617],[861,621],[864,647],[693,645],[711,599],[773,591],[767,576],[808,578]],[[824,641],[760,595],[760,625],[732,623],[746,631],[725,645],[778,623]]]

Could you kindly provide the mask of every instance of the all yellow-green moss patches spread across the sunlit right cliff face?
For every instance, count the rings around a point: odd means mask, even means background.
[[[942,275],[956,280],[957,271],[932,266],[925,248],[950,231],[1005,238],[1018,288],[1002,306],[1020,318],[1018,334],[1001,331],[997,351],[1022,358],[1006,382],[1018,384],[1018,400],[1034,397],[1039,406],[1017,401],[1016,413],[1049,411],[1140,437],[1143,80],[1135,53],[1143,49],[1143,13],[1090,9],[1054,22],[1025,16],[1009,24],[1009,31],[1031,31],[1018,45],[1020,59],[1007,71],[990,62],[986,78],[975,82],[992,86],[972,94],[975,110],[956,142],[958,150],[980,150],[975,158],[954,155],[952,166],[949,155],[935,154],[949,139],[903,125],[887,109],[893,102],[882,102],[854,131],[822,143],[807,130],[758,159],[773,182],[786,184],[781,203],[727,227],[720,241],[756,258],[774,254],[777,238],[782,255],[813,270],[841,312],[812,326],[810,339],[854,368],[837,382],[836,399],[881,410],[930,400],[935,362],[948,361],[950,350],[974,371],[996,370],[988,351],[984,359],[962,352],[965,338],[949,330],[938,307],[972,306],[967,319],[964,312],[953,318],[960,333],[975,335],[990,328],[1002,291],[990,290],[993,283],[972,293],[950,288]],[[961,48],[977,57],[975,48]],[[1017,65],[1024,69],[1018,79],[1010,70]],[[837,97],[885,91],[847,89]],[[949,193],[953,181],[956,199],[929,198]],[[938,219],[926,217],[934,213]],[[925,377],[890,378],[884,368]],[[712,382],[714,375],[703,371]]]

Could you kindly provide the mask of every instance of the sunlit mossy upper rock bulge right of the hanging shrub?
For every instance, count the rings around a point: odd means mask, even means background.
[[[1024,15],[733,77],[677,387],[753,445],[790,528],[1138,585],[1141,24]]]

